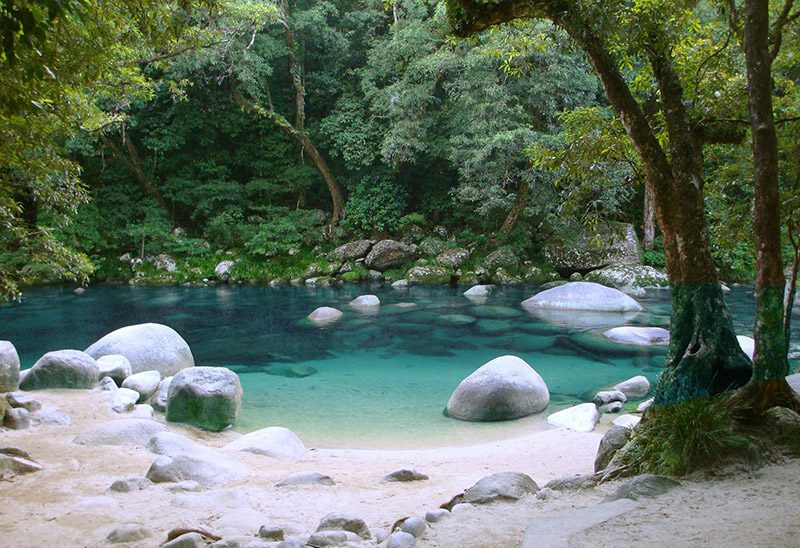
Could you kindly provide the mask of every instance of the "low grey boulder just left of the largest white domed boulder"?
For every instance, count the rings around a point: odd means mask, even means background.
[[[92,356],[80,350],[56,350],[39,358],[19,387],[22,390],[92,388],[99,375],[100,368]]]

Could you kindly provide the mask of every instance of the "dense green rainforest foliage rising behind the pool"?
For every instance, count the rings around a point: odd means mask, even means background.
[[[237,257],[241,277],[267,279],[303,271],[315,246],[363,236],[419,243],[443,226],[480,253],[504,242],[536,261],[553,234],[643,222],[632,145],[584,54],[550,24],[456,40],[434,0],[14,5],[0,3],[6,296],[92,270],[130,277],[126,253],[170,254],[180,271],[170,281],[210,277],[223,255]],[[625,39],[648,16],[664,23],[660,5],[633,2],[606,29],[645,104],[658,101],[653,75]],[[699,3],[664,24],[698,131],[746,120],[724,13]],[[787,120],[800,108],[797,46],[785,33],[775,62]],[[665,134],[657,115],[651,124]],[[739,125],[736,138],[708,139],[704,158],[715,259],[731,281],[752,279],[755,257]],[[794,203],[797,124],[780,128]],[[346,196],[333,231],[332,181]],[[663,266],[658,238],[644,253]]]

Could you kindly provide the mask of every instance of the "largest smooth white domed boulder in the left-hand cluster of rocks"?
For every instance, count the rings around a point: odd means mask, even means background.
[[[86,353],[93,358],[122,354],[131,362],[133,373],[155,370],[165,377],[194,366],[192,351],[183,337],[158,323],[129,325],[112,331],[87,348]]]

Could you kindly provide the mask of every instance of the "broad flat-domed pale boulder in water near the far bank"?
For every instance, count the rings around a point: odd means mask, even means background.
[[[523,308],[639,312],[642,306],[618,289],[592,282],[570,282],[522,301]]]

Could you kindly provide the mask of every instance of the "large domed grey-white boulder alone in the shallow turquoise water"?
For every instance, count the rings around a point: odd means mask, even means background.
[[[516,356],[500,356],[461,381],[447,414],[467,421],[498,421],[539,413],[550,402],[542,377]]]

